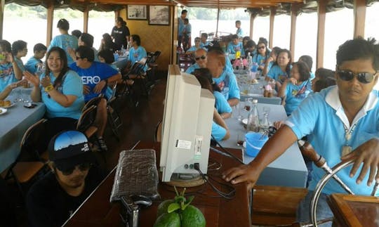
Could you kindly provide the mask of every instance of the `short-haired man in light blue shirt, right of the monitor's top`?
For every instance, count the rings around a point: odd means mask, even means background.
[[[232,107],[239,103],[239,87],[234,73],[230,70],[224,70],[225,54],[220,50],[208,52],[206,67],[211,71],[213,81],[218,85],[222,95]]]

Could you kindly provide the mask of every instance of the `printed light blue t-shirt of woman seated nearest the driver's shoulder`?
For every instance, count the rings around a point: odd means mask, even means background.
[[[298,108],[298,105],[305,100],[307,96],[312,92],[312,85],[309,80],[302,82],[300,85],[292,84],[291,82],[287,83],[286,86],[286,109],[287,115],[291,115],[293,110]]]

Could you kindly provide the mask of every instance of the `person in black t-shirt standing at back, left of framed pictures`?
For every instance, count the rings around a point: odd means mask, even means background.
[[[112,28],[111,36],[114,39],[114,44],[116,44],[116,50],[121,50],[122,46],[124,48],[128,47],[129,36],[131,32],[129,32],[129,28],[126,27],[126,22],[121,17],[118,17],[114,22],[114,27]]]

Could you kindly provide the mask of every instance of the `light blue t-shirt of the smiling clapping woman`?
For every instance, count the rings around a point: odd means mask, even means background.
[[[45,73],[41,74],[40,79],[45,77]],[[79,75],[69,70],[64,76],[62,86],[59,86],[57,90],[68,96],[77,96],[77,99],[70,105],[65,108],[64,106],[57,103],[53,98],[49,98],[48,93],[45,92],[44,87],[41,87],[41,98],[46,105],[46,116],[48,118],[53,117],[71,117],[74,119],[79,119],[81,115],[81,109],[84,107],[84,95],[83,95],[83,84]],[[50,74],[51,84],[54,84],[55,77],[53,74]]]

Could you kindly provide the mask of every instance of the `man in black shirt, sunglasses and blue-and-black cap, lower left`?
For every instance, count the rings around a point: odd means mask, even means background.
[[[64,131],[48,144],[51,171],[27,195],[29,225],[62,226],[102,181],[86,136]]]

